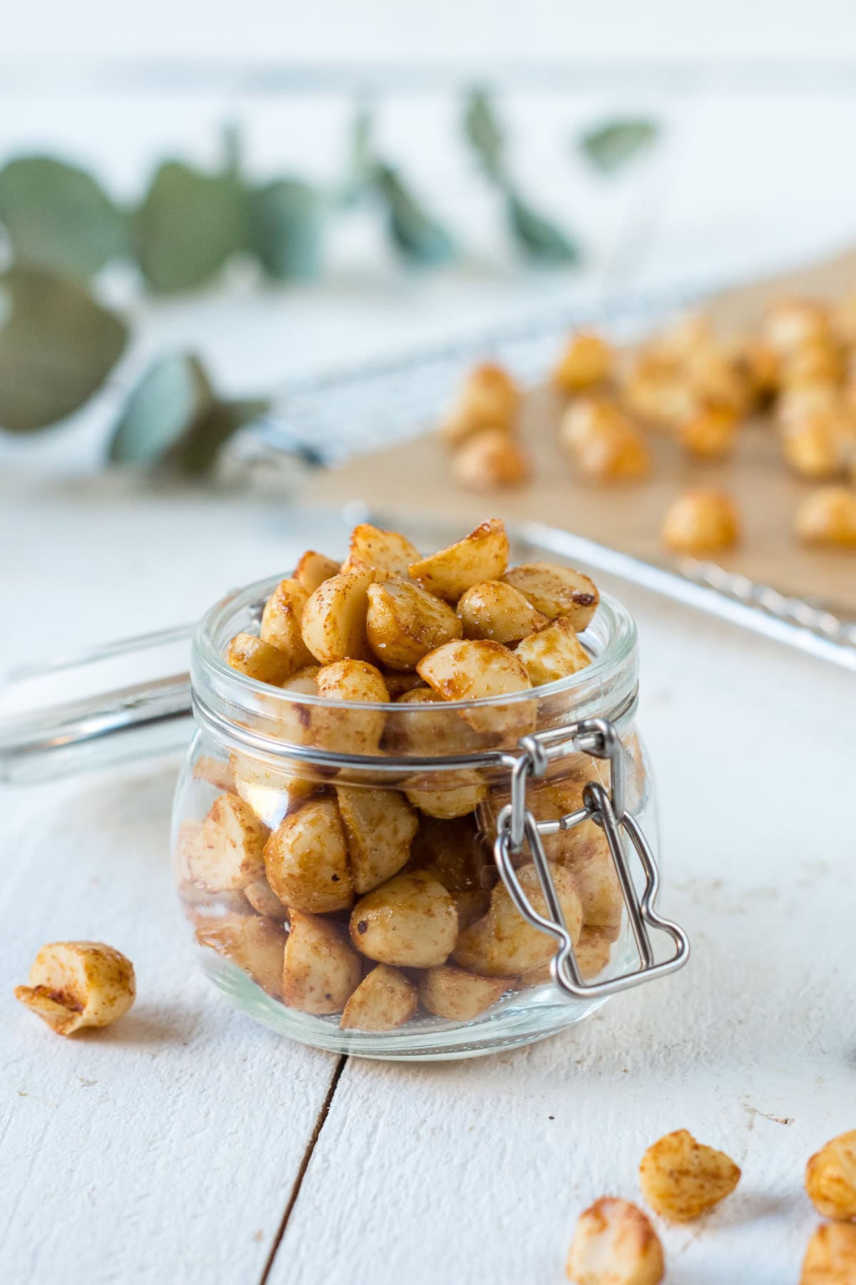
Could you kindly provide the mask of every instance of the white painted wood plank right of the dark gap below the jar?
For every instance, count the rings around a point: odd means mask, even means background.
[[[663,907],[687,970],[527,1050],[350,1060],[272,1285],[562,1280],[576,1214],[638,1199],[674,1128],[729,1151],[737,1194],[662,1230],[672,1285],[796,1280],[807,1156],[853,1127],[852,680],[642,592]],[[792,1119],[792,1123],[779,1123]]]

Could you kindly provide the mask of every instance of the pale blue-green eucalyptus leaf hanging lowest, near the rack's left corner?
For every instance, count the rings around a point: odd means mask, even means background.
[[[169,353],[142,374],[113,429],[113,464],[154,465],[210,414],[214,391],[198,357]]]

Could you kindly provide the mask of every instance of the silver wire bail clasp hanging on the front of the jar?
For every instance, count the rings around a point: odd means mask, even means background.
[[[522,753],[511,774],[511,803],[502,810],[497,820],[494,858],[511,900],[524,919],[558,942],[556,955],[551,960],[551,973],[556,984],[574,1000],[590,1000],[628,991],[651,978],[665,977],[683,968],[689,959],[689,941],[683,928],[656,911],[660,871],[638,820],[625,811],[625,752],[615,725],[606,718],[588,718],[567,727],[524,736],[520,748]],[[583,792],[584,807],[579,811],[569,812],[558,821],[536,821],[526,807],[526,783],[530,777],[543,776],[553,759],[569,753],[608,759],[610,790],[607,792],[597,781],[590,781]],[[584,821],[594,821],[606,835],[639,952],[638,969],[603,982],[584,982],[580,975],[574,941],[565,923],[542,842],[544,834],[571,830]],[[642,896],[637,892],[633,879],[625,835],[629,837],[644,874]],[[545,915],[539,914],[531,905],[515,870],[512,858],[522,852],[524,843],[529,846],[544,894]],[[669,959],[656,962],[648,929],[657,929],[671,938],[675,950]]]

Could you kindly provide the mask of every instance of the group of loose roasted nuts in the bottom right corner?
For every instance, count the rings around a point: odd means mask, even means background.
[[[649,1146],[639,1165],[639,1189],[669,1222],[702,1217],[735,1189],[740,1171],[723,1151],[697,1142],[687,1130]],[[821,1217],[809,1240],[800,1285],[856,1281],[856,1130],[826,1142],[806,1165],[805,1187]],[[576,1225],[567,1276],[576,1285],[658,1285],[665,1277],[662,1244],[638,1205],[615,1196],[595,1200]]]

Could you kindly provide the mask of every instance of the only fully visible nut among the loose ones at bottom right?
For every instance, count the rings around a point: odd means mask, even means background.
[[[685,1128],[648,1148],[639,1165],[639,1187],[663,1218],[690,1222],[730,1195],[740,1171],[724,1151],[705,1146]]]

